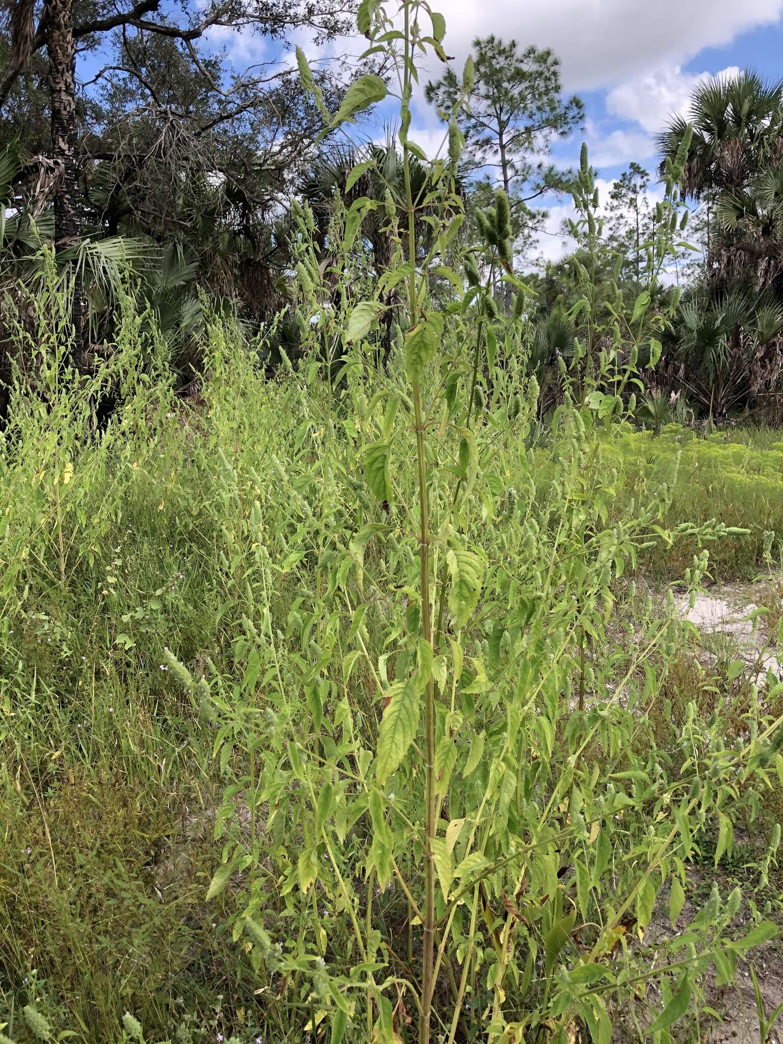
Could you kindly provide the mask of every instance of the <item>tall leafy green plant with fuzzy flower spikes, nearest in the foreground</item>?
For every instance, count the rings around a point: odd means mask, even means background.
[[[583,348],[562,364],[565,401],[537,452],[507,201],[498,194],[478,241],[460,242],[455,121],[431,163],[408,137],[417,55],[444,57],[444,19],[404,0],[395,20],[364,0],[359,28],[397,70],[404,186],[355,201],[335,230],[348,254],[362,214],[382,210],[392,261],[375,283],[335,264],[327,286],[299,212],[313,352],[269,393],[291,397],[295,423],[270,428],[270,479],[221,465],[241,520],[226,556],[242,591],[241,681],[215,670],[194,683],[170,663],[212,718],[228,778],[210,899],[236,888],[234,938],[281,1034],[511,1044],[580,1027],[608,1044],[622,1010],[663,1041],[698,1005],[710,965],[729,981],[776,931],[759,919],[734,938],[738,892],[680,929],[695,847],[717,822],[718,860],[730,849],[783,739],[760,701],[741,732],[695,704],[665,743],[654,728],[681,630],[673,593],[641,597],[628,574],[640,548],[678,531],[662,525],[666,490],[644,504],[618,495],[604,450],[665,322],[654,281],[681,220],[678,171],[631,308],[599,304],[583,263]],[[299,61],[332,128],[388,93],[360,77],[332,116]],[[459,104],[471,79],[468,63]],[[411,157],[427,164],[417,188]],[[598,252],[587,155],[574,194]],[[515,287],[509,315],[477,258]],[[405,330],[383,369],[390,289]],[[707,565],[703,551],[689,589]],[[673,934],[651,942],[665,897]]]

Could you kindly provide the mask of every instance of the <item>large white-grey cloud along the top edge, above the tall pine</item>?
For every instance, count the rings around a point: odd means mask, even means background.
[[[612,87],[662,66],[678,66],[705,47],[769,25],[783,0],[479,0],[441,3],[446,50],[465,61],[476,35],[495,30],[522,46],[551,47],[563,62],[567,90]],[[434,66],[431,75],[438,75]]]

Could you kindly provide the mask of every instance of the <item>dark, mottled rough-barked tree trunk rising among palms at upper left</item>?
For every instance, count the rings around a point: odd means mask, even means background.
[[[73,246],[81,238],[77,201],[73,0],[48,0],[47,30],[52,159],[60,171],[54,195],[54,250],[58,253]],[[85,300],[78,278],[73,284],[73,327],[75,361],[81,365],[85,354]]]

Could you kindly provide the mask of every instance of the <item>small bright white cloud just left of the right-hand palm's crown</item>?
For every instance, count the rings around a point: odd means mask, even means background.
[[[736,76],[737,66],[721,69],[719,76]],[[651,133],[666,126],[672,113],[688,115],[691,95],[708,73],[683,72],[680,66],[663,66],[636,76],[607,94],[607,112],[635,120]]]

